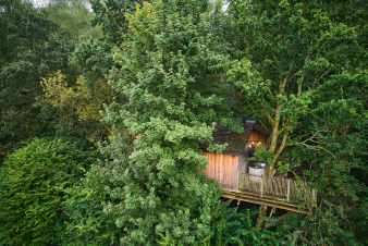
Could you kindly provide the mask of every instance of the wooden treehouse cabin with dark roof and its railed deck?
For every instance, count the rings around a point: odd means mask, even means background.
[[[310,211],[316,193],[306,182],[285,175],[268,177],[267,163],[255,161],[257,148],[267,145],[267,134],[254,121],[245,121],[245,135],[219,131],[217,142],[228,143],[225,153],[205,152],[208,167],[205,174],[222,188],[222,197],[294,212]]]

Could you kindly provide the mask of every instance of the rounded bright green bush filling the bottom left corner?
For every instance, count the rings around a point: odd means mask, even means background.
[[[63,230],[63,201],[94,160],[65,139],[34,139],[0,169],[0,242],[56,245]]]

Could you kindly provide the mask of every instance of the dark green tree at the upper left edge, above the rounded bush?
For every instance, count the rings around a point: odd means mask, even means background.
[[[30,3],[0,1],[0,156],[40,131],[37,109],[40,79],[66,70],[68,35]]]

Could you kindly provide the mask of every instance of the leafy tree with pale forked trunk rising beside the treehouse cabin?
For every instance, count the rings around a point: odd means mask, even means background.
[[[231,2],[236,48],[228,78],[243,90],[244,111],[270,132],[269,175],[278,167],[300,164],[280,158],[300,139],[298,128],[310,113],[312,93],[334,74],[367,66],[365,8],[354,1],[343,8],[320,1]],[[355,11],[352,22],[348,14]]]

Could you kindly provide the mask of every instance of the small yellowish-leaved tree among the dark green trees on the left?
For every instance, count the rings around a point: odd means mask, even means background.
[[[103,79],[87,84],[79,76],[75,85],[69,85],[60,71],[41,83],[42,96],[37,104],[42,108],[42,115],[49,132],[61,136],[78,136],[90,143],[103,140],[107,128],[101,122],[103,104],[111,101],[111,88]]]

